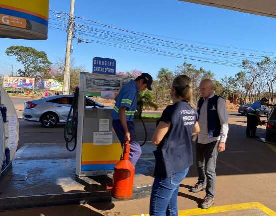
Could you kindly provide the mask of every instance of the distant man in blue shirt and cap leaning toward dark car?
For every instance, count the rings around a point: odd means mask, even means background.
[[[275,106],[268,103],[266,97],[261,98],[261,100],[256,100],[247,112],[247,128],[246,128],[246,136],[250,138],[258,138],[256,136],[257,126],[261,125],[261,121],[259,118],[259,111],[261,105],[265,106]]]

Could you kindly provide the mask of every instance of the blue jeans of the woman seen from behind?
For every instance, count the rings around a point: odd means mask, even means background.
[[[177,195],[179,185],[189,172],[189,167],[171,177],[155,177],[151,197],[150,216],[178,216]]]

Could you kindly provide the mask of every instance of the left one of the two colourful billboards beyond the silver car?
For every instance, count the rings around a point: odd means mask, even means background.
[[[33,89],[34,81],[31,77],[4,76],[3,87]]]

